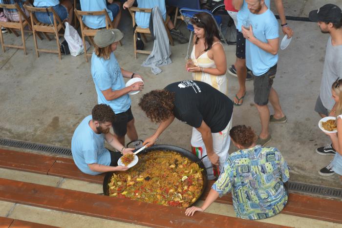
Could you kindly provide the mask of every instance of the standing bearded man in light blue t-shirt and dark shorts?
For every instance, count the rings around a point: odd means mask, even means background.
[[[246,38],[246,65],[254,78],[254,103],[260,116],[261,133],[257,145],[271,140],[269,123],[285,123],[276,90],[272,87],[277,72],[279,33],[278,21],[264,0],[246,0],[250,10],[249,25],[241,28]],[[268,101],[273,106],[270,116]]]

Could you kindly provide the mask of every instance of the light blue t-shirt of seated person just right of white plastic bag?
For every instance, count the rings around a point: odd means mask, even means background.
[[[106,0],[80,0],[82,11],[101,11],[106,9],[111,21],[113,21],[113,15],[110,10],[107,9]],[[105,16],[83,16],[82,21],[89,28],[104,28],[106,27]]]

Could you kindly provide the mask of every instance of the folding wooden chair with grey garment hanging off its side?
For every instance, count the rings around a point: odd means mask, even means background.
[[[149,8],[139,8],[139,7],[129,7],[128,8],[129,13],[132,16],[132,22],[133,22],[133,28],[136,26],[135,22],[135,12],[143,12],[143,13],[152,13],[152,9]],[[167,23],[170,21],[169,15],[166,15],[166,20],[164,21],[165,29],[166,32],[168,33],[168,37],[170,40],[171,45],[173,46],[173,40],[170,34],[170,30],[167,26]],[[141,37],[144,38],[144,42],[147,42],[147,39],[144,34],[151,34],[150,28],[142,28],[139,26],[136,26],[134,29],[134,34],[133,34],[133,44],[134,44],[134,56],[135,59],[137,58],[137,53],[142,53],[142,54],[150,54],[151,51],[145,51],[145,50],[137,50],[136,46],[136,40],[137,40],[137,33],[141,33]]]

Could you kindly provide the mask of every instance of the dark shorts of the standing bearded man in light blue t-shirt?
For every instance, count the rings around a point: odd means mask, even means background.
[[[272,66],[266,73],[254,78],[254,103],[257,105],[268,104],[273,79],[276,77],[277,64]]]

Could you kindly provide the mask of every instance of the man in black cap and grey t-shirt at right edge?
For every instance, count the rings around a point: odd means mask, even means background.
[[[342,79],[342,11],[337,5],[326,4],[309,14],[309,19],[318,23],[322,33],[329,33],[321,80],[320,95],[317,98],[315,111],[321,117],[336,116],[336,104],[331,94],[331,85]],[[335,155],[332,144],[316,149],[321,155]],[[322,176],[334,175],[331,164],[319,171]]]

